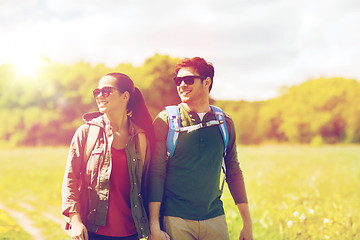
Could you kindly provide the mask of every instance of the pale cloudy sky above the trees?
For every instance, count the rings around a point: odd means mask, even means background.
[[[214,99],[260,101],[309,79],[360,80],[359,29],[359,0],[0,0],[0,65],[200,56]]]

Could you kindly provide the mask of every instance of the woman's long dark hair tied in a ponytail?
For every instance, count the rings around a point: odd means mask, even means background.
[[[136,125],[145,130],[150,142],[150,147],[153,149],[155,143],[154,127],[142,93],[134,86],[134,82],[130,77],[123,73],[109,73],[105,76],[111,76],[116,79],[116,88],[120,92],[129,92],[130,99],[127,105],[128,114]]]

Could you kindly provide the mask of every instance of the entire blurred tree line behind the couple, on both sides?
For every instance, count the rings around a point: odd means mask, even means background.
[[[155,117],[180,101],[171,81],[178,60],[155,54],[141,66],[122,63],[115,68],[48,62],[36,77],[18,76],[14,65],[3,64],[0,146],[68,145],[83,123],[81,116],[97,110],[92,90],[110,72],[129,75]],[[211,101],[231,114],[240,144],[360,142],[358,81],[320,78],[281,91],[267,101]]]

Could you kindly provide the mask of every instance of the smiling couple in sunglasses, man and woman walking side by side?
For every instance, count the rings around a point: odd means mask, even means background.
[[[217,120],[209,104],[214,68],[202,58],[185,58],[175,72],[181,126],[208,127],[180,132],[171,157],[167,111],[152,123],[128,76],[100,79],[93,91],[99,112],[84,115],[63,181],[62,213],[72,239],[229,239],[219,189],[223,155],[244,223],[239,239],[252,239],[234,123],[225,115],[227,145],[219,127],[208,124]]]

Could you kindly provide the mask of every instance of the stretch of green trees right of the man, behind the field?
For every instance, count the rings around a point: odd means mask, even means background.
[[[221,101],[231,113],[244,144],[360,142],[360,83],[319,78],[282,89],[262,102]]]

